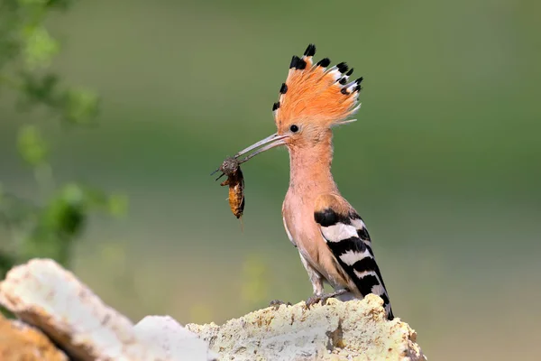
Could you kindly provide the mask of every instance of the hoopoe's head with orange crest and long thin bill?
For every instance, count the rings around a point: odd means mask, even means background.
[[[277,133],[237,153],[235,158],[259,148],[240,162],[280,145],[289,150],[316,146],[330,138],[332,127],[354,121],[347,119],[361,107],[362,77],[348,82],[353,69],[344,62],[328,68],[328,58],[314,63],[315,53],[316,46],[310,44],[301,58],[293,56],[279,100],[272,106]]]

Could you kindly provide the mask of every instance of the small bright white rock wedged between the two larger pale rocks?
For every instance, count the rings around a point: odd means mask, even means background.
[[[217,355],[206,342],[170,316],[147,316],[135,325],[135,333],[160,347],[171,360],[214,361]]]

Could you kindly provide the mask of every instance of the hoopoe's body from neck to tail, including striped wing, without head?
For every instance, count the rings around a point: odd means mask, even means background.
[[[289,149],[289,190],[282,205],[286,233],[298,247],[314,295],[324,295],[324,282],[335,290],[348,291],[339,296],[342,301],[376,293],[383,299],[388,317],[392,319],[389,295],[375,264],[370,236],[362,218],[338,190],[331,173],[332,158],[330,131],[314,147],[302,151]],[[317,215],[326,211],[331,213],[331,218],[337,218],[334,224],[327,225],[317,219]],[[329,227],[339,229],[325,229]],[[367,263],[370,269],[361,266]],[[362,273],[367,274],[359,277]]]

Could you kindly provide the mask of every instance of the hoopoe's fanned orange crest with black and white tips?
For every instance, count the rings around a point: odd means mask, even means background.
[[[316,45],[310,44],[302,58],[295,55],[291,59],[279,101],[272,106],[277,126],[291,120],[338,125],[361,107],[358,99],[362,77],[348,82],[353,68],[345,62],[328,68],[328,58],[314,63],[315,54]]]

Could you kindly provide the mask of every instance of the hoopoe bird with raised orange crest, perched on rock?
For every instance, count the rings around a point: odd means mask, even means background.
[[[291,60],[279,101],[272,106],[278,132],[234,158],[257,150],[241,163],[280,145],[288,148],[289,190],[282,216],[314,289],[307,307],[329,297],[348,301],[374,293],[383,300],[387,318],[393,319],[371,237],[362,218],[340,194],[331,173],[332,129],[355,121],[347,119],[361,107],[362,78],[348,82],[353,68],[345,62],[327,68],[331,63],[328,58],[314,63],[315,53],[316,46],[310,44],[304,56]],[[335,292],[325,294],[324,282]]]

